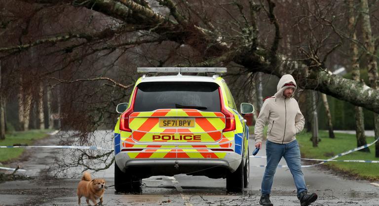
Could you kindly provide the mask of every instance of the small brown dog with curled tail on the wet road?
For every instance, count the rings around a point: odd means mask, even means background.
[[[100,199],[100,204],[103,204],[104,191],[104,179],[91,180],[91,174],[89,172],[84,172],[81,181],[77,185],[77,203],[80,205],[80,198],[84,196],[88,205],[90,205],[89,200],[96,205],[97,199]]]

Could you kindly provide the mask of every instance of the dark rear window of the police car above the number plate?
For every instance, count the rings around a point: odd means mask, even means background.
[[[144,82],[138,86],[134,111],[194,108],[219,112],[219,85],[213,82]]]

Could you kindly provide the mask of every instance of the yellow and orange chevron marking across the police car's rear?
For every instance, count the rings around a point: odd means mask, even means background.
[[[190,128],[161,128],[159,118],[191,118],[195,126]],[[152,112],[134,112],[129,116],[132,133],[121,131],[121,149],[130,158],[224,158],[225,151],[215,148],[233,148],[234,132],[222,133],[225,115],[221,112],[203,112],[196,109],[158,109]],[[171,135],[175,140],[152,141],[153,135]],[[184,135],[199,135],[201,140],[178,140]],[[175,144],[173,144],[175,143]]]

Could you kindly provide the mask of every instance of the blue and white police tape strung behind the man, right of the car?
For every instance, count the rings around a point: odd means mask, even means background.
[[[344,156],[344,155],[347,155],[347,154],[350,154],[352,152],[355,152],[355,151],[358,151],[358,150],[361,150],[361,149],[364,149],[366,147],[369,147],[373,144],[375,144],[377,141],[379,140],[379,138],[375,139],[375,141],[369,143],[369,144],[365,144],[363,146],[360,146],[360,147],[357,147],[357,148],[354,148],[354,149],[350,149],[348,151],[345,151],[345,152],[342,152],[338,155],[335,155],[327,160],[323,160],[323,159],[309,159],[309,158],[301,158],[302,160],[310,160],[310,161],[322,161],[320,163],[317,163],[317,164],[314,164],[314,165],[303,165],[302,168],[309,168],[309,167],[314,167],[314,166],[318,166],[318,165],[322,165],[324,163],[327,163],[327,162],[360,162],[360,163],[379,163],[379,161],[375,161],[375,160],[334,160],[334,159],[337,159],[341,156]],[[249,157],[254,157],[254,158],[267,158],[265,156],[252,156],[250,155]],[[256,166],[253,166],[253,167],[259,167],[259,168],[264,168],[266,167],[265,165],[256,165]],[[287,165],[278,165],[278,168],[288,168]]]

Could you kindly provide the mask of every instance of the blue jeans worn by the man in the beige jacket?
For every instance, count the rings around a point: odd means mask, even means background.
[[[294,177],[295,185],[298,191],[298,198],[300,193],[307,191],[300,160],[300,148],[297,140],[287,144],[278,144],[267,140],[266,156],[267,166],[265,175],[263,176],[261,190],[263,195],[271,193],[274,174],[282,157],[286,160],[288,168]]]

